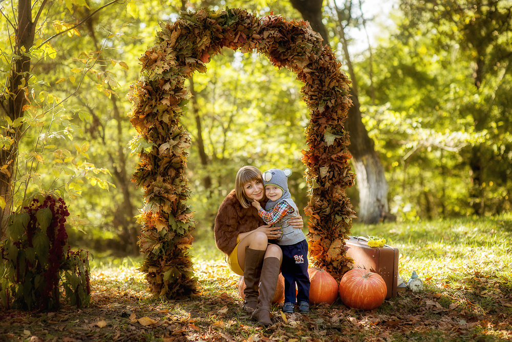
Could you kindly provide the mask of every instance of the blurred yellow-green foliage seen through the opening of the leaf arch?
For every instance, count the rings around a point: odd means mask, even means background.
[[[262,170],[275,165],[292,168],[289,187],[298,206],[305,207],[309,198],[301,151],[306,148],[309,115],[296,75],[286,68],[276,69],[257,53],[225,48],[211,58],[204,74],[193,77],[198,103],[194,111],[201,120],[208,156],[207,165],[202,164],[196,121],[189,109],[183,123],[192,135],[187,167],[195,237],[208,237],[219,203],[242,165]],[[209,187],[205,177],[211,181]]]

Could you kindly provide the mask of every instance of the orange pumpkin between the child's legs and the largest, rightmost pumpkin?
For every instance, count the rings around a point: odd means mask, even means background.
[[[311,287],[309,288],[309,303],[334,303],[338,297],[338,283],[333,276],[318,267],[308,268],[309,281]]]

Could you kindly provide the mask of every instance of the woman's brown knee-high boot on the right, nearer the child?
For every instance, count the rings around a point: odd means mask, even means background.
[[[260,277],[260,295],[256,310],[252,313],[252,318],[258,320],[265,327],[272,324],[270,304],[275,295],[275,288],[278,285],[280,268],[281,262],[279,258],[270,257],[263,260]]]

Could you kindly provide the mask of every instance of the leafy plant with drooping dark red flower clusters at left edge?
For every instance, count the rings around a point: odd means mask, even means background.
[[[60,287],[70,303],[90,301],[89,253],[68,245],[68,207],[56,195],[36,195],[7,217],[0,244],[0,305],[16,309],[58,309]]]

